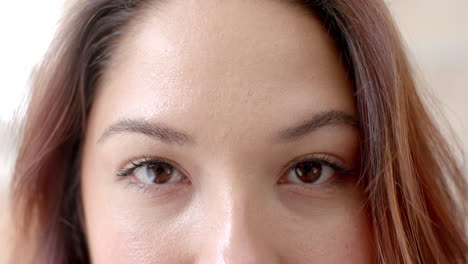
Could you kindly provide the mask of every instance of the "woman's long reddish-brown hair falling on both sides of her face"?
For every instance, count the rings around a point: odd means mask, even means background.
[[[466,263],[467,183],[415,88],[380,0],[285,0],[320,18],[355,89],[362,175],[379,263]],[[13,262],[89,263],[80,148],[101,73],[149,0],[84,0],[65,16],[33,82],[12,182]],[[156,1],[157,2],[157,1]]]

